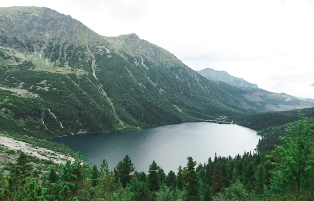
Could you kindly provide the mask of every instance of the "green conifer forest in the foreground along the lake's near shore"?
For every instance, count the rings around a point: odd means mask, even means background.
[[[0,173],[0,200],[314,200],[314,124],[299,113],[269,154],[215,155],[165,173],[137,172],[126,155],[113,169],[84,161],[56,165],[23,152]],[[34,165],[36,164],[36,165]]]

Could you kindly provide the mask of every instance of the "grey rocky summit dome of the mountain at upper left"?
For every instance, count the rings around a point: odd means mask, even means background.
[[[23,53],[45,52],[47,46],[55,43],[77,47],[100,37],[70,16],[48,8],[11,7],[0,11],[0,44]]]

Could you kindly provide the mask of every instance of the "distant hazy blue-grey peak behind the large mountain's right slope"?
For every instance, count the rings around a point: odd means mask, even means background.
[[[226,71],[216,71],[211,68],[205,68],[197,72],[208,79],[226,82],[236,87],[258,88],[256,84],[249,83],[243,78],[233,77]]]

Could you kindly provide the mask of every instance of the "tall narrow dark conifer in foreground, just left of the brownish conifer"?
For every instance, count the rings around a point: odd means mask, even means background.
[[[201,200],[201,184],[198,173],[195,171],[196,161],[192,157],[188,157],[185,175],[186,200]]]

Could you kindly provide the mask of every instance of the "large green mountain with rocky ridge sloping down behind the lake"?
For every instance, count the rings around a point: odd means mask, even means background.
[[[37,7],[0,8],[0,95],[2,132],[39,138],[314,106],[209,80],[135,34],[100,36]]]

